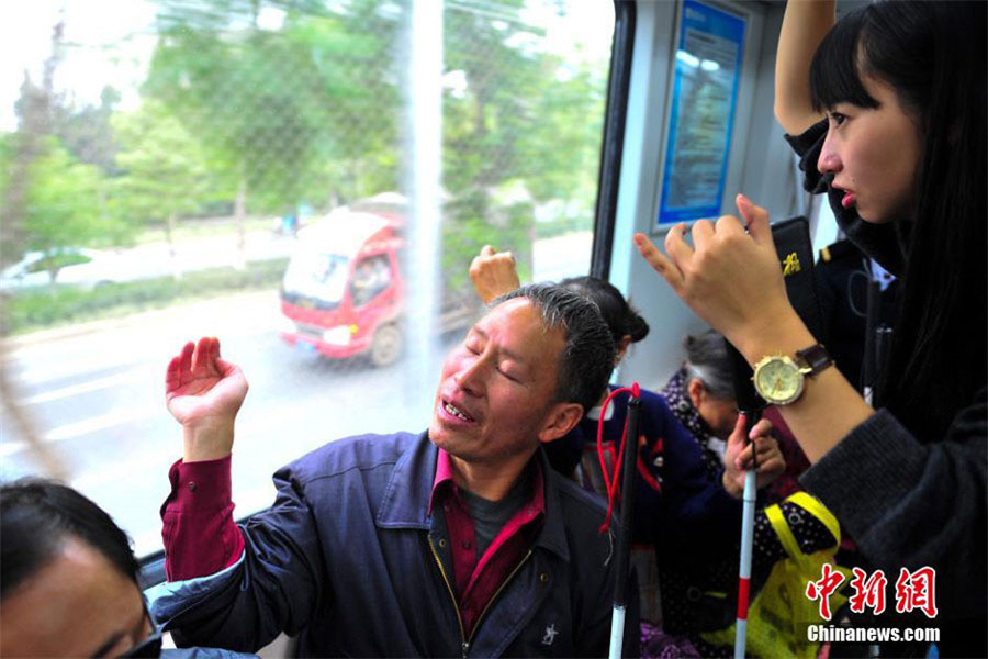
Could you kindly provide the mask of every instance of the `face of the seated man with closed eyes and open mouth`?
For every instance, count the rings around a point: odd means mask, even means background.
[[[564,434],[553,423],[568,405],[553,403],[564,346],[563,331],[544,330],[527,299],[495,306],[442,365],[433,444],[465,462],[498,466]]]

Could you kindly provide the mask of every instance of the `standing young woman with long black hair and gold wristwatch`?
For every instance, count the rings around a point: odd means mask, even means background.
[[[635,241],[752,366],[791,376],[781,410],[813,462],[804,484],[889,585],[903,568],[935,570],[939,615],[924,622],[942,629],[942,655],[985,656],[986,4],[882,1],[833,15],[833,2],[789,2],[775,111],[807,189],[900,278],[882,409],[827,368],[786,298],[767,213],[748,198],[743,220],[696,222],[692,247],[684,225],[665,254]],[[811,369],[805,380],[794,364]]]

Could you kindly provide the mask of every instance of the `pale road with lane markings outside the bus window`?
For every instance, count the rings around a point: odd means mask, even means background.
[[[457,336],[437,339],[431,366],[405,359],[374,369],[283,344],[277,310],[276,291],[243,293],[11,342],[8,368],[22,409],[68,467],[70,483],[131,533],[138,556],[161,547],[158,509],[168,468],[181,456],[164,373],[187,339],[218,336],[250,382],[234,446],[236,515],[270,505],[271,473],[326,442],[427,426],[439,362]],[[37,473],[9,417],[0,428],[0,479]]]

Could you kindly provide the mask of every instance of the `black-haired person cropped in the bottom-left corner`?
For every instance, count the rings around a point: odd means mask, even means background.
[[[67,485],[0,485],[0,657],[247,657],[162,649],[127,534]]]

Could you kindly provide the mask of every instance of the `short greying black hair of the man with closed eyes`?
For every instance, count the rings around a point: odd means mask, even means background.
[[[535,305],[543,327],[566,333],[555,376],[555,400],[580,403],[586,413],[600,400],[614,370],[614,339],[597,305],[555,283],[530,283],[497,298],[491,306],[515,298],[526,298]]]

